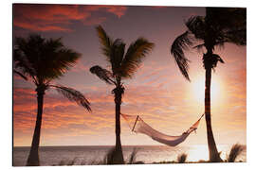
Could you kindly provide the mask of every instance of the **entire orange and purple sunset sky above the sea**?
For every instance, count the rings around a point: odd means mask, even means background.
[[[184,21],[192,15],[205,15],[205,8],[14,5],[13,33],[27,37],[39,33],[60,38],[82,58],[63,77],[52,81],[82,92],[92,112],[68,101],[54,90],[45,95],[41,145],[115,144],[115,103],[113,86],[89,72],[94,65],[109,69],[101,54],[95,26],[101,25],[113,39],[128,46],[139,37],[155,43],[155,48],[132,79],[124,80],[121,112],[139,115],[151,127],[179,135],[204,112],[203,51],[188,51],[191,60],[187,81],[170,53],[174,39],[186,30]],[[224,59],[212,73],[211,118],[216,144],[246,144],[247,132],[247,49],[226,44],[215,53]],[[35,86],[13,76],[13,143],[30,145],[37,103]],[[121,119],[122,144],[158,144],[134,134]],[[207,144],[206,124],[202,119],[197,133],[182,143]]]

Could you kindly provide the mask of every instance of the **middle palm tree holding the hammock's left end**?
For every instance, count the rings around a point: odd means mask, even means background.
[[[120,105],[124,93],[122,79],[131,78],[137,71],[142,59],[152,51],[154,43],[148,42],[144,38],[138,38],[132,42],[125,53],[125,43],[121,39],[113,41],[106,34],[101,26],[96,27],[101,42],[101,50],[107,61],[111,65],[112,71],[96,65],[90,68],[90,72],[99,76],[107,84],[115,85],[112,93],[115,94],[116,104],[116,158],[115,162],[124,163],[120,143]]]

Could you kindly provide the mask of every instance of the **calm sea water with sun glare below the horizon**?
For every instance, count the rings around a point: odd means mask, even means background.
[[[61,161],[74,161],[75,164],[92,164],[92,162],[102,161],[105,154],[112,146],[41,146],[40,162],[43,166],[60,164]],[[207,145],[176,146],[165,145],[124,145],[124,159],[128,160],[129,155],[137,148],[136,161],[145,163],[159,161],[175,161],[181,153],[188,154],[188,161],[208,160]],[[222,158],[226,158],[229,152],[229,145],[218,145],[222,151]],[[13,166],[25,166],[29,147],[13,148]],[[238,161],[247,161],[246,151],[238,158]]]

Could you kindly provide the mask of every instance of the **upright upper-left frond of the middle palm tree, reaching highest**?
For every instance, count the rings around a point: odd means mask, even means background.
[[[101,50],[103,54],[107,57],[107,59],[110,61],[111,60],[111,47],[113,41],[111,38],[108,37],[102,26],[97,26],[96,27],[98,37],[101,42]]]

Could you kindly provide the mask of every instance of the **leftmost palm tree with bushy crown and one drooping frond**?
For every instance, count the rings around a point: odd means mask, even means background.
[[[27,165],[40,165],[38,148],[43,116],[44,94],[49,88],[54,88],[71,101],[75,101],[86,110],[90,103],[82,93],[62,85],[51,84],[51,81],[64,76],[81,55],[66,48],[61,39],[42,38],[40,35],[30,35],[27,39],[15,38],[14,73],[25,80],[32,81],[37,93],[37,118],[30,147]]]

